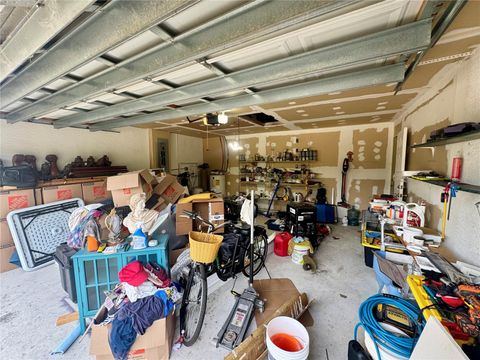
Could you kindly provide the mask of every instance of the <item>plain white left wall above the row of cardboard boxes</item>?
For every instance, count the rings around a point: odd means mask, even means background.
[[[0,158],[11,164],[14,154],[31,154],[37,157],[37,166],[45,156],[56,154],[62,169],[77,155],[84,160],[92,155],[108,155],[113,165],[126,165],[129,170],[148,168],[149,130],[127,127],[115,132],[90,132],[83,129],[54,129],[50,125],[17,123],[0,120]]]

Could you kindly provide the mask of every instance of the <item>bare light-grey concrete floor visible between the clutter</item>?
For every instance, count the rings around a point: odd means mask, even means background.
[[[304,271],[289,258],[272,254],[267,259],[272,277],[291,278],[301,292],[316,299],[310,310],[315,324],[308,328],[310,359],[327,359],[326,350],[330,360],[347,358],[358,306],[377,289],[373,270],[363,263],[357,228],[333,226],[333,236],[339,239],[329,236],[315,254],[319,267],[316,274]],[[262,270],[257,278],[268,275]],[[212,339],[233,305],[232,285],[228,282],[209,296],[199,341],[174,351],[171,359],[223,359],[226,350],[215,348]],[[240,275],[235,288],[241,291],[245,286],[246,279]],[[75,327],[55,326],[58,316],[71,311],[64,297],[56,266],[30,273],[17,269],[0,274],[0,358],[93,359],[88,355],[89,337],[77,341],[63,356],[49,355]]]

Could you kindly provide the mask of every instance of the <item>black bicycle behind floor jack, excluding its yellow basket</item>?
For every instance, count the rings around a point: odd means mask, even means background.
[[[221,280],[226,281],[235,277],[240,271],[245,276],[250,276],[250,227],[235,226],[230,221],[214,225],[199,214],[189,211],[184,211],[182,216],[200,221],[199,230],[201,231],[202,226],[206,226],[207,234],[229,226],[227,231],[231,232],[227,232],[225,236],[236,234],[237,237],[231,257],[225,258],[224,254],[217,254],[217,258],[211,264],[192,261],[183,273],[184,293],[180,308],[180,334],[183,344],[191,346],[198,339],[205,318],[208,297],[207,278],[216,273]],[[246,239],[248,241],[245,241]],[[255,226],[253,245],[253,275],[256,275],[265,264],[268,250],[266,230],[262,226]]]

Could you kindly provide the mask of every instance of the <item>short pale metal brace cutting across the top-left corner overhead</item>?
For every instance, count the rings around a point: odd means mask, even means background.
[[[95,0],[46,1],[0,49],[0,81],[30,58]],[[61,14],[61,15],[60,15]]]

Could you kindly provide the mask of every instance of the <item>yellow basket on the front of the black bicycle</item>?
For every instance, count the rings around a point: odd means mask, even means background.
[[[206,234],[199,231],[188,233],[190,241],[190,257],[193,261],[210,264],[217,257],[218,249],[223,241],[223,236]]]

